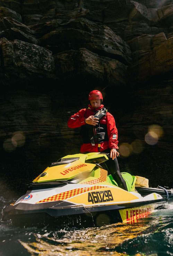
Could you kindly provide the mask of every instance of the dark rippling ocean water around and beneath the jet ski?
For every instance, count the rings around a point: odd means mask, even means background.
[[[3,208],[17,195],[3,186],[0,191],[0,256],[173,255],[173,200],[134,224],[20,228],[1,220]]]

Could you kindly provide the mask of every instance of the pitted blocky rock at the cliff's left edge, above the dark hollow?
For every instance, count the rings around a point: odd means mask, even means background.
[[[18,39],[0,39],[0,49],[3,72],[18,72],[19,77],[32,76],[51,76],[54,71],[54,60],[52,53],[47,49],[29,44]]]

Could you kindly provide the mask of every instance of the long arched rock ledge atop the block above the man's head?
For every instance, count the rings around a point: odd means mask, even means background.
[[[100,30],[102,30],[101,36],[73,28],[51,31],[39,40],[39,44],[44,47],[49,45],[49,49],[54,54],[66,49],[87,48],[101,56],[109,56],[126,64],[130,63],[131,52],[129,46],[106,26],[103,26]]]

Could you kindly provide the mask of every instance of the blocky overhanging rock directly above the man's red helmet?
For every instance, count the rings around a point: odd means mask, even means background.
[[[117,60],[101,57],[98,54],[80,48],[79,51],[66,51],[54,56],[57,76],[77,83],[81,79],[112,85],[127,83],[127,66]],[[78,77],[78,78],[77,78]]]

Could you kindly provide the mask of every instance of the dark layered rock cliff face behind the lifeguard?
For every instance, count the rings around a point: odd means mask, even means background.
[[[173,185],[172,0],[0,1],[0,83],[2,177],[78,153],[67,121],[97,88],[121,170]]]

